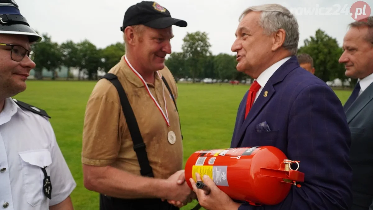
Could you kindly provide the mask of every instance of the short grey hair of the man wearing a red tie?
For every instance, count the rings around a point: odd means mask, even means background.
[[[247,13],[257,11],[261,12],[258,24],[263,28],[264,33],[269,35],[275,33],[280,28],[285,30],[285,41],[283,47],[292,55],[297,55],[299,28],[297,19],[280,4],[263,4],[260,6],[252,6],[247,8],[239,17],[239,21],[247,15]]]

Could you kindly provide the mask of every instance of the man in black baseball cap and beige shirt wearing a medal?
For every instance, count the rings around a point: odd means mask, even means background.
[[[88,99],[84,185],[100,193],[101,210],[175,210],[195,198],[177,182],[184,176],[178,89],[164,65],[172,25],[187,24],[156,2],[129,7],[120,27],[126,54]]]

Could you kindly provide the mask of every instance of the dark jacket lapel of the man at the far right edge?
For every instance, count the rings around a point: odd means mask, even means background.
[[[351,104],[350,108],[346,111],[347,123],[364,108],[373,99],[373,83],[370,84],[367,89]]]

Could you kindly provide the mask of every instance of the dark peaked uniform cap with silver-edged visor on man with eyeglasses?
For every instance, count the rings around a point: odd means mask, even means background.
[[[28,24],[26,18],[19,12],[15,0],[0,0],[0,34],[27,35],[30,44],[42,40]]]

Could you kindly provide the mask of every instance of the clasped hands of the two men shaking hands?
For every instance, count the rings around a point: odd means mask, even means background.
[[[197,199],[195,192],[185,182],[184,170],[174,173],[166,181],[169,187],[167,188],[166,197],[162,198],[162,201],[167,200],[169,204],[181,208]]]

